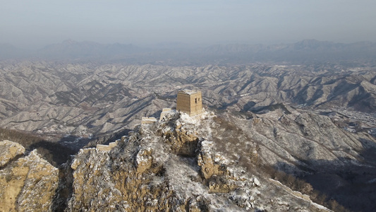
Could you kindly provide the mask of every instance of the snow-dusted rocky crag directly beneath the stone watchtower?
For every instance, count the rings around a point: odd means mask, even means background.
[[[139,126],[111,151],[81,150],[71,165],[67,210],[327,210],[250,172],[239,158],[226,158],[213,142],[226,129],[214,119],[171,112],[162,122]]]

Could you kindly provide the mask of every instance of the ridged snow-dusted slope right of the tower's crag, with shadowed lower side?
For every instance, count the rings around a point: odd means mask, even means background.
[[[337,117],[286,109],[289,114],[279,109],[248,119],[242,113],[223,114],[222,119],[234,123],[256,143],[261,167],[303,179],[351,211],[375,210],[370,203],[376,200],[376,138],[368,131],[341,127]],[[239,146],[245,147],[243,142]],[[231,146],[224,149],[229,154],[238,152]]]

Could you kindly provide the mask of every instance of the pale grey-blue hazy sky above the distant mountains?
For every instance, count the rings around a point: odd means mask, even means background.
[[[0,1],[0,43],[376,41],[375,0]]]

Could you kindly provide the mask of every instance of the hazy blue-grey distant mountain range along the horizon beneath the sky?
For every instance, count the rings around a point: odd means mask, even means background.
[[[375,60],[376,44],[350,44],[302,40],[279,45],[212,45],[209,47],[138,47],[114,43],[65,40],[37,51],[25,51],[0,44],[0,59],[125,61],[133,64],[247,64],[255,61],[348,61]]]

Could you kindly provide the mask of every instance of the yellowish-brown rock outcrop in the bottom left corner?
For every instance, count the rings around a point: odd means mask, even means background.
[[[37,151],[0,141],[0,211],[50,211],[59,171]]]

